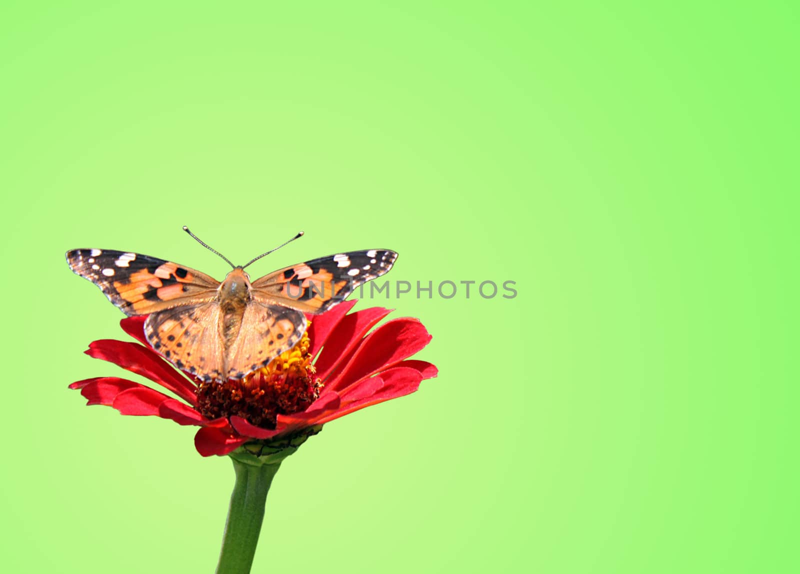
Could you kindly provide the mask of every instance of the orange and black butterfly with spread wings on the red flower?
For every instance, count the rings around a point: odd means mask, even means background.
[[[245,268],[302,236],[234,265],[220,282],[172,261],[110,249],[73,249],[70,269],[97,285],[126,315],[148,315],[150,345],[201,381],[242,379],[291,349],[306,331],[305,313],[342,302],[358,285],[388,272],[398,254],[388,249],[337,253],[278,269],[250,281]]]

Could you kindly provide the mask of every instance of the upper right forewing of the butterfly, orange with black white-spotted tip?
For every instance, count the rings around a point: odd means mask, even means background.
[[[350,251],[279,269],[251,285],[264,305],[284,305],[303,313],[322,313],[363,285],[388,272],[398,254],[387,249]]]

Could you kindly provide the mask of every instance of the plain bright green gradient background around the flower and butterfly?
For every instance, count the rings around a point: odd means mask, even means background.
[[[418,393],[283,465],[254,572],[791,572],[793,2],[3,2],[2,566],[211,572],[234,473],[87,409],[63,260],[389,247]]]

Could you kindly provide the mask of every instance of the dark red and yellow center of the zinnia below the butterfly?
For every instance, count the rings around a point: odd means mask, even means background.
[[[237,415],[251,425],[274,429],[278,415],[305,410],[319,397],[322,381],[311,365],[308,333],[292,349],[241,381],[198,386],[196,409],[211,419]]]

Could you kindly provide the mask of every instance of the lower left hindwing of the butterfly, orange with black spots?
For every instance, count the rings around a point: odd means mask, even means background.
[[[202,381],[225,379],[223,313],[216,301],[153,313],[145,321],[150,345],[178,369]]]

